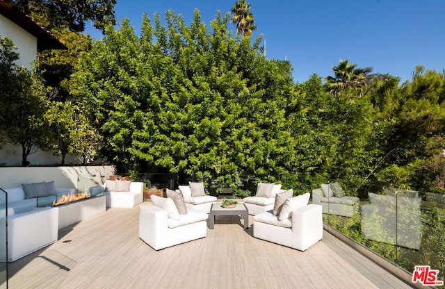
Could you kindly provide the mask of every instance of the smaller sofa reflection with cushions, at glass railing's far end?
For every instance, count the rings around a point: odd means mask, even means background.
[[[323,206],[325,214],[352,217],[359,211],[359,198],[346,196],[344,193],[334,195],[336,191],[332,190],[333,184],[336,183],[322,184],[321,188],[312,190],[312,204]]]

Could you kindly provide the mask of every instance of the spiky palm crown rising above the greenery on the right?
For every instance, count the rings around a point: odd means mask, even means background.
[[[331,94],[337,96],[341,94],[341,90],[353,88],[359,91],[361,97],[369,81],[367,74],[371,73],[373,68],[357,68],[357,65],[349,60],[340,60],[340,64],[332,67],[332,70],[334,77],[327,76],[325,79],[325,85]]]

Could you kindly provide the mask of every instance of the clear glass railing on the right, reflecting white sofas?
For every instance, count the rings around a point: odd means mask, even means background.
[[[439,270],[437,281],[445,280],[445,195],[371,188],[359,199],[350,195],[364,194],[344,190],[343,197],[341,184],[336,186],[312,191],[325,224],[409,274],[415,266],[430,266]]]

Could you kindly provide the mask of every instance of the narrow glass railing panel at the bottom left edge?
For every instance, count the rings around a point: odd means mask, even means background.
[[[0,189],[0,289],[8,288],[8,194]]]

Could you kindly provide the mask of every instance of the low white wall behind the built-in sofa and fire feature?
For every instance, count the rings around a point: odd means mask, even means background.
[[[86,179],[102,185],[108,176],[115,174],[115,167],[79,166],[79,167],[0,167],[0,188],[15,188],[22,183],[54,181],[56,188],[80,188]],[[79,182],[80,181],[80,182]]]

